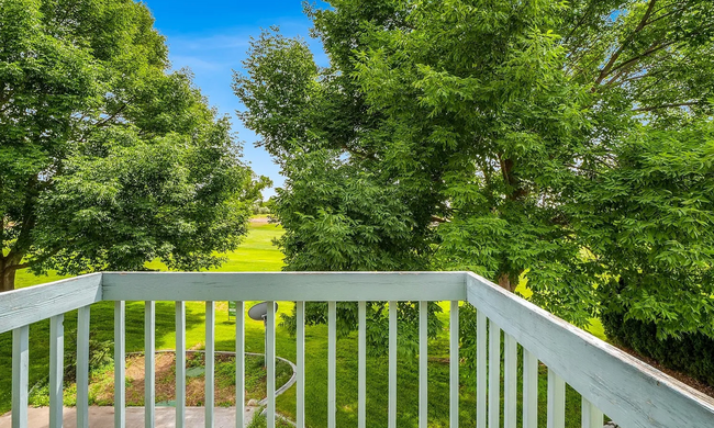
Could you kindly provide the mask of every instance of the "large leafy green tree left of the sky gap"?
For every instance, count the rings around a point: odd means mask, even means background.
[[[132,0],[0,0],[0,291],[221,261],[264,179]]]

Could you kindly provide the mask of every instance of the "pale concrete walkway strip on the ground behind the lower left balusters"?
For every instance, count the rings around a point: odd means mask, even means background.
[[[244,420],[249,424],[253,420],[253,414],[259,407],[246,406],[244,413]],[[187,427],[203,427],[205,426],[204,417],[205,409],[203,407],[187,407],[186,408],[186,426]],[[235,427],[235,407],[215,407],[214,412],[214,427],[215,428],[233,428]],[[47,428],[49,427],[49,408],[48,407],[31,407],[27,409],[27,426],[32,428]],[[176,408],[174,407],[156,407],[156,427],[168,428],[176,426]],[[74,407],[65,407],[64,409],[64,426],[77,426],[77,417]],[[113,427],[114,426],[114,407],[89,407],[89,426],[90,427]],[[0,428],[10,428],[10,413],[0,416]],[[143,428],[144,427],[144,407],[127,407],[126,408],[126,428]]]

